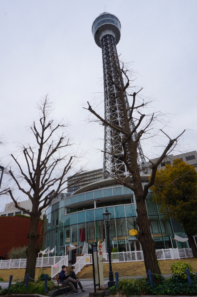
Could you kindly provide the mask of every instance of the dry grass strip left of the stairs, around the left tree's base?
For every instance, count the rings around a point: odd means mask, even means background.
[[[50,275],[51,267],[36,268],[35,279],[38,279],[39,271],[43,270],[44,273]],[[0,269],[0,277],[6,282],[9,282],[10,275],[13,275],[14,279],[22,279],[25,276],[25,268],[20,269]],[[14,279],[12,280],[14,282]]]

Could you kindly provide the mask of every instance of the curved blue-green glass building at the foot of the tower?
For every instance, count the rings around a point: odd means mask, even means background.
[[[148,176],[142,176],[145,185]],[[132,182],[132,180],[131,180]],[[134,193],[123,186],[114,184],[113,179],[105,179],[91,183],[78,189],[72,196],[66,194],[56,198],[46,210],[44,224],[43,249],[56,246],[56,255],[82,253],[86,243],[105,241],[106,227],[103,213],[107,209],[112,214],[110,220],[110,241],[117,251],[141,250],[140,242],[128,231],[138,229],[136,224],[136,207]],[[152,202],[149,193],[146,200],[147,211],[151,221],[151,233],[156,248],[187,248],[187,243],[171,240],[177,234],[185,237],[181,226],[174,220],[168,220],[159,213],[159,206]],[[79,246],[77,250],[68,251],[65,246]],[[89,245],[88,245],[89,248]],[[90,250],[89,250],[90,251]],[[51,254],[51,255],[54,255]]]

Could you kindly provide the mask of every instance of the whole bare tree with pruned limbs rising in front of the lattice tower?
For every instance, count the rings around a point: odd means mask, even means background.
[[[161,113],[142,113],[141,109],[144,110],[147,104],[150,103],[150,100],[147,100],[146,102],[143,100],[142,97],[138,97],[137,99],[137,96],[139,95],[139,92],[142,90],[142,88],[138,89],[137,92],[132,92],[131,94],[127,93],[129,90],[128,88],[130,84],[131,72],[128,69],[125,69],[124,64],[120,67],[118,57],[117,59],[114,59],[113,67],[114,69],[112,69],[111,73],[118,73],[119,79],[114,80],[112,75],[110,75],[109,79],[113,83],[117,95],[115,96],[113,92],[112,94],[108,93],[107,96],[111,96],[111,100],[114,100],[114,102],[118,98],[118,100],[120,100],[120,102],[122,103],[123,124],[119,125],[117,124],[117,122],[114,123],[112,119],[106,120],[91,107],[89,102],[88,108],[86,109],[89,110],[90,113],[97,118],[95,119],[94,117],[94,121],[99,121],[103,126],[110,127],[112,132],[116,131],[117,134],[121,135],[121,137],[119,137],[119,141],[121,141],[122,144],[122,155],[116,154],[114,153],[114,151],[106,151],[104,153],[110,154],[111,156],[113,156],[113,158],[117,159],[118,161],[124,162],[124,164],[127,166],[127,170],[130,173],[130,175],[118,175],[113,177],[115,178],[117,184],[129,188],[135,193],[135,200],[137,205],[136,211],[138,214],[137,224],[139,227],[137,238],[139,239],[142,245],[146,272],[148,272],[148,270],[151,270],[152,273],[161,275],[155,254],[156,247],[151,235],[151,223],[148,219],[145,201],[148,189],[152,185],[154,185],[155,175],[159,164],[162,162],[164,157],[166,157],[167,154],[172,151],[172,149],[175,147],[177,143],[178,138],[183,134],[184,131],[180,133],[179,136],[175,137],[174,139],[171,139],[167,135],[167,133],[163,132],[163,130],[160,130],[161,133],[163,133],[165,136],[169,138],[169,142],[166,146],[164,146],[162,153],[160,154],[159,158],[155,163],[149,160],[149,162],[151,163],[151,165],[149,166],[149,170],[151,169],[152,174],[150,181],[145,185],[143,189],[140,172],[147,172],[148,169],[144,165],[140,169],[138,165],[138,143],[142,139],[146,139],[157,134],[155,133],[154,125],[156,125],[156,121],[159,120],[158,116],[161,115]],[[127,95],[132,97],[132,104],[129,108],[125,100],[126,93]],[[139,132],[137,132],[137,130]],[[129,177],[132,177],[133,183],[130,183]],[[156,278],[155,275],[153,275],[153,277],[155,282],[159,281],[159,279]]]

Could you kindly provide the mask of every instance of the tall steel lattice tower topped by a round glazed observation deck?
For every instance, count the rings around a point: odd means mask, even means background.
[[[110,120],[114,124],[123,125],[122,103],[118,97],[118,90],[111,82],[110,75],[120,85],[120,79],[114,67],[114,62],[119,59],[116,50],[116,44],[120,40],[121,25],[119,19],[107,12],[100,14],[93,22],[92,34],[98,47],[102,48],[103,56],[103,78],[104,78],[104,102],[105,102],[105,120]],[[129,108],[127,94],[125,92],[125,101]],[[131,120],[131,129],[134,127]],[[135,137],[136,135],[134,135]],[[110,127],[104,128],[104,151],[116,155],[122,155],[122,133],[118,133]],[[138,143],[138,164],[140,169],[146,167],[146,160],[143,157],[143,151],[140,143]],[[145,173],[145,172],[142,172]],[[103,178],[109,175],[128,175],[127,167],[122,161],[117,160],[108,153],[104,153],[103,159]]]

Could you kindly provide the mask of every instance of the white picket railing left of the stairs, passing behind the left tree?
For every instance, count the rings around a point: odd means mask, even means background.
[[[58,263],[65,256],[40,257],[36,260],[36,267],[47,267]],[[27,259],[1,260],[0,269],[26,268]]]

